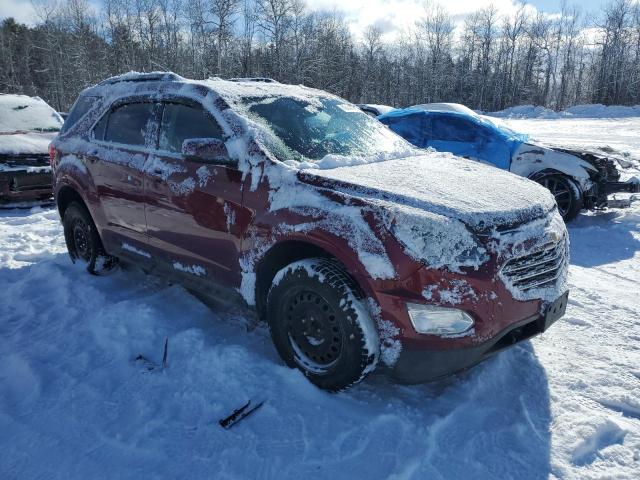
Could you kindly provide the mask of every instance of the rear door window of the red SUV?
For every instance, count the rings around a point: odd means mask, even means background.
[[[144,145],[147,124],[153,115],[151,103],[127,103],[111,110],[98,122],[94,137],[126,145]]]

